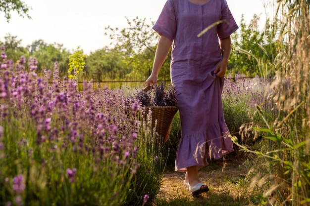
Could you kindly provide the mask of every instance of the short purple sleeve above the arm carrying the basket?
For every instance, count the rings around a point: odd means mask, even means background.
[[[176,32],[175,10],[172,0],[167,0],[153,29],[173,41]]]

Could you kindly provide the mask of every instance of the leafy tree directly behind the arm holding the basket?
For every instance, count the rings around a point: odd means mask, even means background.
[[[146,18],[138,17],[129,20],[126,18],[128,27],[122,30],[107,27],[107,34],[113,40],[115,49],[123,53],[124,63],[131,72],[128,79],[146,80],[152,72],[158,34],[152,29],[154,22],[148,24]],[[170,77],[170,54],[163,64],[159,79]]]

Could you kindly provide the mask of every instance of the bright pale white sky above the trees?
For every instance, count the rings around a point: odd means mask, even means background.
[[[111,42],[104,35],[105,27],[125,28],[125,17],[136,16],[156,21],[166,0],[22,0],[32,7],[31,19],[12,12],[9,23],[0,13],[0,41],[9,33],[22,40],[26,46],[42,39],[47,43],[62,43],[73,51],[80,46],[84,53],[101,49]],[[227,0],[237,22],[245,15],[247,22],[254,14],[260,15],[261,28],[266,11],[272,15],[272,7],[264,8],[268,0]],[[267,3],[268,4],[268,3]]]

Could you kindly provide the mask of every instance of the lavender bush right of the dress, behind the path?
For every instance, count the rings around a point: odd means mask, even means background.
[[[231,74],[224,81],[222,93],[223,110],[226,124],[233,135],[243,143],[250,143],[258,138],[258,132],[247,125],[263,125],[256,113],[256,106],[260,105],[270,112],[271,100],[264,95],[264,84],[260,79],[246,79],[238,74],[234,80]]]

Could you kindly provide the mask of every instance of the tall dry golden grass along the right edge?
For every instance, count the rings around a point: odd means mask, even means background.
[[[269,87],[277,112],[270,116],[257,106],[265,128],[256,129],[265,138],[260,151],[250,151],[258,154],[251,175],[252,186],[263,189],[260,205],[310,205],[309,9],[309,0],[278,0],[282,46]]]

